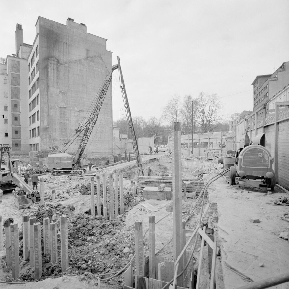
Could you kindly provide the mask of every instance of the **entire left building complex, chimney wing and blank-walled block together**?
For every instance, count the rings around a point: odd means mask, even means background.
[[[16,54],[0,63],[0,144],[14,153],[60,145],[87,118],[112,68],[106,39],[68,18],[66,25],[38,17],[32,45],[16,25]],[[81,135],[67,152],[77,150]],[[107,92],[86,147],[90,158],[112,154],[112,89]]]

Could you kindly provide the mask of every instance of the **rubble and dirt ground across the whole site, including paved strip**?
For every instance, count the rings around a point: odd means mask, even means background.
[[[201,179],[204,182],[219,173],[218,159],[205,160],[182,155],[182,176]],[[159,153],[144,158],[143,171],[147,175],[150,167],[151,176],[172,174],[170,153]],[[210,167],[210,170],[208,169]],[[97,173],[106,173],[106,191],[109,200],[109,174],[114,169],[123,171],[124,213],[112,220],[103,218],[103,207],[95,216],[91,216],[90,177]],[[193,173],[193,174],[192,174]],[[205,173],[205,174],[204,174]],[[27,284],[1,284],[1,288],[122,288],[123,273],[114,274],[124,268],[135,253],[134,223],[142,220],[143,232],[149,228],[149,215],[155,215],[155,251],[167,261],[173,261],[173,212],[172,200],[143,199],[131,191],[131,180],[137,182],[135,163],[119,164],[100,171],[86,173],[81,177],[52,177],[43,175],[45,204],[40,207],[34,203],[30,208],[18,210],[12,193],[5,193],[0,198],[0,215],[3,220],[13,218],[19,225],[20,277],[12,279],[11,271],[5,270],[5,247],[0,250],[0,281]],[[282,231],[288,232],[288,222],[281,216],[288,213],[288,207],[275,205],[274,200],[288,196],[280,188],[272,192],[259,187],[260,181],[240,180],[235,186],[229,186],[224,178],[212,183],[208,188],[210,203],[208,214],[202,225],[214,229],[220,252],[217,256],[216,276],[218,288],[239,287],[251,281],[258,281],[289,270],[288,242],[279,238]],[[102,183],[100,184],[102,192]],[[55,202],[51,202],[51,191],[55,190]],[[97,185],[95,183],[95,194]],[[102,195],[101,195],[102,198]],[[182,201],[183,216],[196,199]],[[148,204],[148,205],[146,205]],[[151,212],[146,207],[152,206]],[[287,210],[286,210],[287,209]],[[191,236],[199,210],[195,211],[186,223],[186,240]],[[36,217],[36,222],[43,225],[43,218],[56,219],[66,215],[68,219],[69,267],[64,275],[61,262],[52,264],[50,258],[42,256],[42,281],[36,281],[34,269],[29,261],[23,260],[22,216],[29,214]],[[250,218],[259,218],[260,223],[252,223]],[[3,227],[2,227],[3,228]],[[60,231],[58,232],[60,236]],[[5,238],[4,238],[5,239]],[[5,244],[5,242],[4,242]],[[188,250],[192,249],[194,239]],[[286,247],[287,246],[287,247]],[[198,240],[194,254],[194,268],[197,274],[201,240]],[[286,250],[287,248],[287,250]],[[148,255],[148,234],[144,235],[144,255]],[[269,253],[270,252],[270,253]],[[60,242],[58,242],[58,256]],[[260,264],[263,264],[261,266]],[[208,288],[208,255],[202,260],[201,288]],[[111,278],[112,276],[115,277]],[[98,280],[98,278],[100,278]],[[196,275],[195,275],[196,278]],[[285,286],[284,284],[283,286]],[[282,285],[280,285],[282,286]],[[275,288],[282,288],[276,286]],[[283,287],[288,288],[288,287]]]

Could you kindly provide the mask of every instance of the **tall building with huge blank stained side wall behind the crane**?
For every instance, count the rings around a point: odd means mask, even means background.
[[[29,151],[61,145],[87,116],[112,68],[106,39],[85,24],[38,17],[28,55]],[[81,134],[67,152],[77,150]],[[112,90],[103,102],[86,147],[87,157],[112,155]]]

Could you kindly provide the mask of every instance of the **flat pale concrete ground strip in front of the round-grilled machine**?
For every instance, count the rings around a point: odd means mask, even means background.
[[[220,178],[208,189],[211,209],[218,214],[214,229],[221,247],[226,289],[289,270],[288,241],[279,238],[280,232],[288,231],[288,222],[280,218],[288,213],[288,207],[274,205],[275,199],[288,194],[276,188],[268,195],[259,184],[260,181],[239,181],[238,186],[232,187]],[[252,223],[252,216],[260,223]],[[264,266],[260,267],[260,263]],[[271,288],[289,288],[289,283]]]

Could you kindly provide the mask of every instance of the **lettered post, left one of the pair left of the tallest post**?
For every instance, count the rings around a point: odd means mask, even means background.
[[[136,244],[136,275],[144,274],[144,250],[143,250],[143,236],[142,236],[142,221],[136,220],[134,222],[134,234]]]

